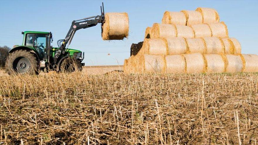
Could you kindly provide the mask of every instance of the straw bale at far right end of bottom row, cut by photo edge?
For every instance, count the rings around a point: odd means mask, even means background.
[[[242,54],[245,61],[245,69],[243,72],[258,72],[258,55],[257,54]]]

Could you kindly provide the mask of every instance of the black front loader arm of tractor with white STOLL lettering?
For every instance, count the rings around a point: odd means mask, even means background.
[[[58,60],[60,54],[64,54],[66,49],[71,44],[72,38],[74,37],[74,34],[77,30],[93,27],[93,26],[96,26],[98,23],[101,23],[101,25],[103,25],[103,23],[105,23],[105,14],[104,14],[103,3],[102,3],[102,7],[100,7],[100,8],[101,8],[101,16],[99,16],[99,15],[92,16],[92,17],[72,21],[72,25],[71,25],[65,39],[57,41],[57,45],[58,45],[58,47],[60,47],[60,49],[58,49],[57,52],[55,53],[54,65],[57,64],[57,60]],[[67,45],[67,47],[66,47],[66,45]]]

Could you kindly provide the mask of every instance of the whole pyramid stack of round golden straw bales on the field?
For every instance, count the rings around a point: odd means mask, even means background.
[[[258,72],[258,56],[241,54],[239,41],[228,36],[213,8],[166,11],[162,23],[146,28],[143,43],[132,45],[124,72]]]

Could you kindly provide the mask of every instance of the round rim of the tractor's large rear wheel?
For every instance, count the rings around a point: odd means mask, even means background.
[[[20,74],[26,73],[30,67],[30,60],[26,57],[17,57],[13,62],[13,70]]]

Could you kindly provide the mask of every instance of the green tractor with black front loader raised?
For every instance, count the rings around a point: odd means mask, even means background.
[[[39,74],[40,71],[50,70],[68,73],[82,71],[84,53],[68,49],[68,47],[77,30],[93,27],[98,23],[101,25],[105,23],[103,3],[100,16],[72,21],[65,39],[57,41],[58,47],[50,45],[53,42],[51,32],[22,32],[23,43],[14,45],[10,50],[6,59],[6,72],[8,74]]]

